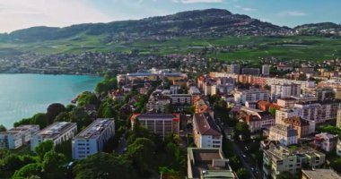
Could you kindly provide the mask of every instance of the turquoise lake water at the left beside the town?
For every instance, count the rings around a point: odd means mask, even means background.
[[[0,124],[11,128],[15,121],[46,112],[51,103],[70,104],[99,81],[82,75],[0,74]]]

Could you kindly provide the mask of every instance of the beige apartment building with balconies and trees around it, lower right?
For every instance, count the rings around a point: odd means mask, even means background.
[[[283,145],[271,144],[263,153],[264,178],[276,179],[283,172],[298,175],[302,166],[319,168],[326,161],[326,155],[309,147],[289,149]]]

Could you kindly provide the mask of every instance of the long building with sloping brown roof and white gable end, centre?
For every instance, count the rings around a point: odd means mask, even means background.
[[[197,148],[222,148],[223,135],[208,113],[193,116],[193,132]]]

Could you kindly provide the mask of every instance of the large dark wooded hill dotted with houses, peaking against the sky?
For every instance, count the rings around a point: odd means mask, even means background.
[[[278,36],[291,30],[268,22],[252,19],[247,15],[233,14],[227,10],[197,10],[137,21],[113,21],[89,23],[66,28],[32,27],[0,34],[0,41],[37,42],[62,38],[77,38],[83,35],[105,35],[105,42],[134,39],[169,39],[181,36]]]

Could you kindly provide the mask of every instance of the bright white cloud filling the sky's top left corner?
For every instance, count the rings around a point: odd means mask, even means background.
[[[84,0],[0,0],[0,32],[100,21],[113,20]]]

